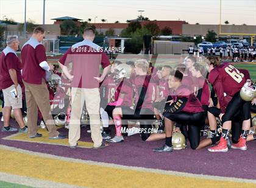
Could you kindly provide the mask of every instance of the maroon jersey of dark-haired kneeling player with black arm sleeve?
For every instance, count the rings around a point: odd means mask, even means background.
[[[185,107],[181,110],[181,112],[188,112],[188,113],[198,113],[198,112],[204,112],[202,109],[202,104],[199,101],[199,99],[194,96],[194,94],[191,94],[191,90],[188,89],[186,86],[180,86],[176,90],[171,89],[170,90],[172,99],[174,102],[176,102],[179,98],[187,98],[188,101],[185,104]]]

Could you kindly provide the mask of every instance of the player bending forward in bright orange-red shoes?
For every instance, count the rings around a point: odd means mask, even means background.
[[[232,118],[241,109],[243,113],[242,134],[237,144],[232,144],[232,148],[246,150],[246,138],[250,128],[250,102],[241,99],[240,90],[246,82],[243,73],[240,73],[232,64],[221,64],[216,57],[208,58],[208,81],[212,84],[215,90],[221,113],[219,118],[222,121],[222,135],[219,144],[215,147],[210,147],[210,152],[227,152],[227,139],[232,125]],[[225,95],[229,95],[232,99],[226,107]],[[226,108],[225,108],[226,107]]]

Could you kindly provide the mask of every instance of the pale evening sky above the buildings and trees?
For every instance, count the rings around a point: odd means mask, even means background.
[[[24,22],[25,0],[0,0],[0,19],[12,18]],[[220,0],[179,0],[179,1],[85,1],[85,0],[46,0],[46,24],[53,24],[52,18],[71,16],[91,23],[126,22],[135,19],[144,10],[143,16],[151,20],[181,20],[190,24],[219,24]],[[43,23],[43,0],[27,0],[27,21]],[[222,24],[256,25],[256,0],[222,0]]]

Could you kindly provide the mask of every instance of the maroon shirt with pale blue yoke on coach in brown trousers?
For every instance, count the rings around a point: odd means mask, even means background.
[[[46,61],[46,54],[43,44],[35,38],[30,38],[21,49],[23,63],[22,78],[29,84],[41,84],[42,79],[46,80],[46,72],[40,67],[40,62]]]

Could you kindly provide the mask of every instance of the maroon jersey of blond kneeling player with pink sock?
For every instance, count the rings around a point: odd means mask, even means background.
[[[155,91],[156,91],[156,84],[154,81],[151,80],[151,76],[144,75],[144,76],[136,76],[134,79],[135,84],[135,107],[143,108],[143,109],[151,109],[153,110],[153,102],[155,101]],[[138,99],[140,97],[139,91],[142,87],[146,88],[146,95],[144,96],[142,106],[137,106]]]

